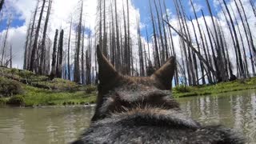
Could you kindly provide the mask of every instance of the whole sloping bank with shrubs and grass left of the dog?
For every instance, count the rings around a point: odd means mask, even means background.
[[[36,75],[26,70],[0,69],[0,105],[83,105],[96,101],[96,86]]]

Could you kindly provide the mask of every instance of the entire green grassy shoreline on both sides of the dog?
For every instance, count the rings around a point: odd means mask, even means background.
[[[256,89],[256,78],[210,86],[176,86],[173,94],[177,98],[248,89]],[[0,68],[0,105],[83,105],[96,102],[96,95],[96,86],[81,86],[60,78],[49,80],[26,70]]]

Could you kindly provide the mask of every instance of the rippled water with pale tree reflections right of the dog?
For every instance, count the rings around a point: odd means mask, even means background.
[[[179,98],[182,110],[205,125],[222,124],[256,142],[256,90]]]

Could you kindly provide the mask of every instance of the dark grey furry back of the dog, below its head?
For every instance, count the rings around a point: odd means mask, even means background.
[[[134,114],[112,114],[92,123],[77,143],[243,143],[243,140],[222,126],[200,126],[179,110],[169,110],[166,115],[136,110]]]

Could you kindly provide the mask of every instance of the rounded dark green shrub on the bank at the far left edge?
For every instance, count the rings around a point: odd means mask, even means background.
[[[22,93],[23,89],[19,82],[7,78],[0,78],[0,95],[8,97]]]

